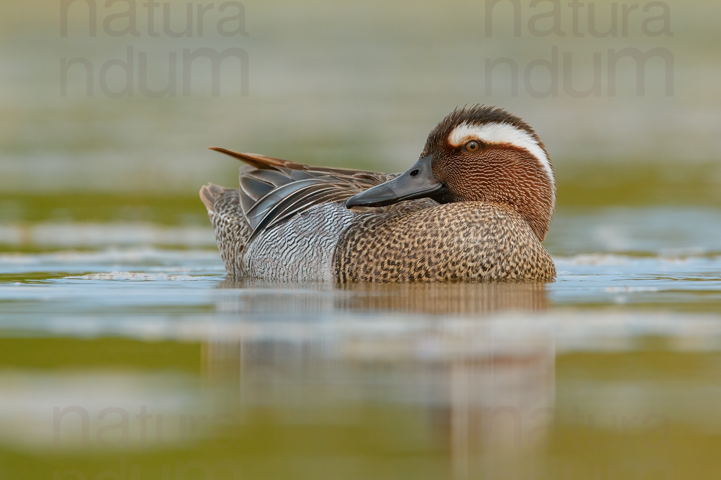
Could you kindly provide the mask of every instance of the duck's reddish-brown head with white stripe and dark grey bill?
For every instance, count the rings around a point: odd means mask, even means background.
[[[543,240],[556,184],[546,148],[529,124],[504,109],[464,107],[430,132],[411,168],[351,197],[346,206],[383,207],[420,198],[507,204]]]

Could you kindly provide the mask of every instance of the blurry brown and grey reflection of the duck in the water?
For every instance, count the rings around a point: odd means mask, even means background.
[[[205,343],[203,364],[242,424],[263,418],[281,437],[288,425],[370,429],[386,450],[440,449],[454,479],[536,468],[554,344],[518,325],[547,308],[544,285],[223,287],[216,309],[236,333]]]

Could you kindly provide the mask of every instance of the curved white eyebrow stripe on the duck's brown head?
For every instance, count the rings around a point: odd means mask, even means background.
[[[526,132],[522,128],[514,127],[508,123],[493,122],[482,125],[474,125],[469,123],[462,123],[458,127],[454,128],[451,135],[448,135],[448,142],[454,147],[458,147],[467,140],[477,138],[487,143],[510,143],[511,145],[523,148],[531,152],[534,157],[539,159],[541,166],[546,172],[546,176],[553,186],[553,190],[556,189],[556,179],[553,176],[553,170],[551,168],[551,160],[548,155],[544,152],[541,145],[536,142],[536,139],[531,136],[530,133]],[[555,192],[554,192],[554,203],[555,203]]]

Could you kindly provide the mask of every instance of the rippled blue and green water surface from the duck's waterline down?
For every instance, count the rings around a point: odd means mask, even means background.
[[[717,478],[720,219],[561,209],[546,286],[232,284],[203,224],[6,222],[0,473]]]

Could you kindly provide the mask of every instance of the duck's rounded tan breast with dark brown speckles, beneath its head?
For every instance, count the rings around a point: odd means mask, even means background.
[[[343,232],[336,281],[553,281],[556,268],[510,207],[481,201],[363,213]]]

